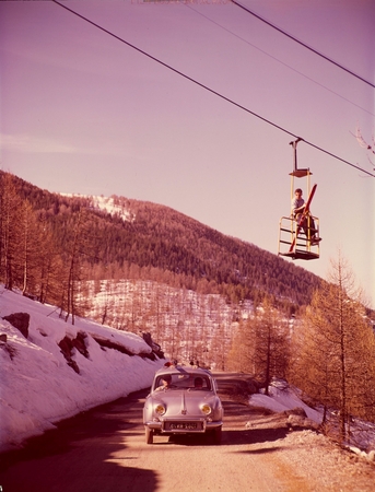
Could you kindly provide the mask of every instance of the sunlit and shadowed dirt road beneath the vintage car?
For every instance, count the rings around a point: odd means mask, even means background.
[[[0,456],[2,491],[318,490],[307,475],[281,459],[285,446],[280,443],[289,433],[284,423],[272,423],[271,417],[243,405],[236,391],[228,391],[231,377],[222,375],[219,383],[225,411],[221,446],[203,436],[157,436],[147,445],[141,420],[147,391],[139,391],[60,423],[21,452]],[[245,427],[259,419],[268,419],[268,425]]]

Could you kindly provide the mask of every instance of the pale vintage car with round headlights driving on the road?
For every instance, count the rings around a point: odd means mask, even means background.
[[[169,365],[155,373],[143,407],[147,444],[156,435],[206,434],[221,443],[223,406],[211,372]]]

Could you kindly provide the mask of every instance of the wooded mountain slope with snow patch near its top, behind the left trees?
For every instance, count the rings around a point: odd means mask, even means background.
[[[66,270],[73,237],[78,237],[83,280],[138,277],[219,293],[233,303],[259,303],[271,296],[290,313],[308,304],[321,281],[255,244],[226,236],[168,207],[116,196],[51,194],[1,172],[3,189],[10,177],[17,200],[27,202],[37,223],[50,232],[55,255],[59,254]]]

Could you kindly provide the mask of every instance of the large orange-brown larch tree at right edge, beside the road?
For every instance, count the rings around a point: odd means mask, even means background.
[[[306,309],[303,333],[294,337],[291,379],[316,401],[338,409],[339,438],[349,435],[351,417],[374,406],[375,342],[362,297],[347,262],[332,262],[330,282],[316,291]]]

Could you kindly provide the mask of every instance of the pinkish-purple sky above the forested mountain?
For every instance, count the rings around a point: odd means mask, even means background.
[[[107,32],[52,1],[0,2],[0,168],[278,254],[301,137],[323,242],[296,265],[327,278],[340,250],[375,307],[375,156],[355,138],[374,147],[373,0],[241,2],[329,60],[228,0],[62,4]]]

